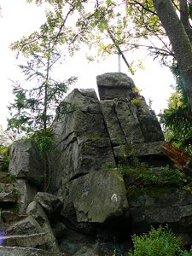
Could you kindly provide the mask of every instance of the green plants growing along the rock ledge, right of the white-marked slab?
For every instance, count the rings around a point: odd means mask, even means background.
[[[189,183],[189,178],[177,169],[169,166],[153,169],[149,168],[148,164],[140,162],[131,144],[121,150],[119,172],[125,177],[128,186],[183,188],[186,183]]]

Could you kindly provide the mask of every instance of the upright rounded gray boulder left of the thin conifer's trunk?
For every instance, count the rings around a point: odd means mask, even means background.
[[[9,172],[15,177],[25,178],[35,185],[42,185],[44,173],[38,154],[32,143],[26,141],[15,142],[10,149]]]

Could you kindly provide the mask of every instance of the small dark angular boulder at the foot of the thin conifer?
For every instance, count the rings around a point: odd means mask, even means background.
[[[35,201],[38,201],[41,207],[44,208],[44,212],[50,217],[56,217],[61,212],[62,202],[55,195],[51,195],[45,192],[38,192],[34,198]]]

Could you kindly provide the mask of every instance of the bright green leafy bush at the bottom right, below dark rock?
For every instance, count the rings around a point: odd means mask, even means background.
[[[168,226],[160,226],[157,230],[153,227],[148,234],[142,236],[132,236],[134,249],[128,256],[190,256],[190,252],[183,249],[183,242],[180,237],[176,237]]]

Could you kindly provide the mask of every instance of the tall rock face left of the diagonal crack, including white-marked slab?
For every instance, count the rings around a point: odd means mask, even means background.
[[[70,218],[67,212],[73,207],[78,222],[103,223],[127,211],[125,184],[120,175],[106,170],[115,161],[96,92],[73,90],[66,101],[74,110],[55,125],[60,144],[51,188],[63,198],[65,217]],[[113,194],[117,201],[111,200]]]

